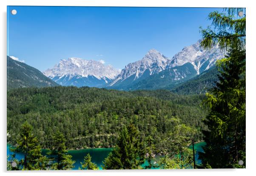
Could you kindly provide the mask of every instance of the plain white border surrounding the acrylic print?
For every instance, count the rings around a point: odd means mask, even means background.
[[[254,175],[256,168],[256,143],[255,143],[255,125],[256,115],[254,111],[255,97],[255,76],[256,70],[256,52],[255,52],[255,24],[256,24],[256,6],[253,0],[0,0],[1,9],[1,74],[0,74],[0,118],[1,118],[1,145],[0,145],[0,168],[3,175],[105,175],[105,176],[130,176],[130,175]],[[6,172],[6,6],[7,5],[45,5],[45,6],[148,6],[148,7],[246,7],[247,16],[247,64],[246,64],[246,77],[247,77],[247,118],[246,118],[246,169],[214,169],[214,170],[104,170],[104,171],[51,171],[51,172]],[[254,173],[254,174],[253,174]]]

